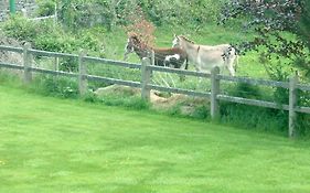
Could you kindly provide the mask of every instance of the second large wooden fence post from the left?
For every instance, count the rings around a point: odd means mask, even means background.
[[[87,93],[87,66],[84,62],[84,56],[86,53],[84,51],[81,51],[78,54],[78,90],[79,95],[85,95]]]

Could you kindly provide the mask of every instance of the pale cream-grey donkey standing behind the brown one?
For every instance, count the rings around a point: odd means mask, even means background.
[[[210,72],[214,66],[226,67],[235,76],[234,62],[237,65],[236,50],[229,44],[199,45],[182,35],[174,35],[172,47],[180,47],[188,54],[189,62],[195,64],[197,72]],[[235,65],[235,67],[236,67]]]

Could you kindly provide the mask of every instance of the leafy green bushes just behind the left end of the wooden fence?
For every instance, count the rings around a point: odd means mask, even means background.
[[[38,50],[78,53],[83,49],[92,55],[104,55],[101,40],[92,30],[85,29],[78,33],[72,33],[53,21],[34,22],[15,15],[3,23],[3,31],[7,36],[30,42],[32,47]],[[74,72],[77,69],[77,62],[73,58],[62,58],[60,68]]]

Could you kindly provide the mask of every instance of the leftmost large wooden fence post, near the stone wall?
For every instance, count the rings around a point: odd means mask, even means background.
[[[23,81],[25,84],[29,84],[32,81],[31,54],[29,53],[30,47],[30,43],[23,45]]]

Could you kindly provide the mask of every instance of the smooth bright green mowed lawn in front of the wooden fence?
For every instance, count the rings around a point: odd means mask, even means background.
[[[309,147],[0,84],[0,192],[310,192]]]

